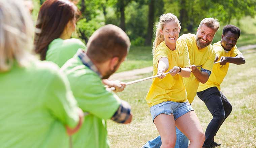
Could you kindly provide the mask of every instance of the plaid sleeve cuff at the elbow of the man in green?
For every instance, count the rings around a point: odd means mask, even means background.
[[[127,119],[129,119],[131,115],[131,106],[125,102],[122,101],[119,108],[111,118],[111,120],[116,121],[118,123],[124,123]]]

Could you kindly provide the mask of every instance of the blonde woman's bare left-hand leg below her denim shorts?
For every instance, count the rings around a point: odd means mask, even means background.
[[[174,148],[176,133],[173,114],[160,114],[155,117],[154,123],[162,140],[162,145],[160,148]]]

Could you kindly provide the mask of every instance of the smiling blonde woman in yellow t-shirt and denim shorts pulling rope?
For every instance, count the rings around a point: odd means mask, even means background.
[[[178,39],[180,22],[172,13],[160,16],[153,44],[153,79],[146,97],[161,136],[160,148],[174,148],[175,125],[190,140],[189,148],[201,148],[205,139],[201,124],[187,100],[182,77],[191,73],[188,47]],[[165,75],[164,72],[171,71]]]

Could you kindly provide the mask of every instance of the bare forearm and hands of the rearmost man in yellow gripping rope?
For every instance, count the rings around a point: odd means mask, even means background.
[[[216,60],[216,58],[215,58],[215,60]],[[218,60],[218,57],[217,57],[217,60]],[[245,64],[245,58],[244,58],[243,54],[237,54],[237,56],[235,56],[235,57],[221,57],[220,61],[221,61],[220,65],[226,65],[227,62],[236,64],[236,65]]]

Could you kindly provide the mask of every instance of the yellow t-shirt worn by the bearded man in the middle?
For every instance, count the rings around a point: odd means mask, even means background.
[[[196,35],[190,33],[183,34],[178,40],[182,40],[187,43],[191,65],[194,64],[197,66],[202,66],[203,69],[212,71],[215,60],[215,52],[211,44],[205,48],[198,49],[196,45]],[[200,67],[198,67],[198,69],[201,70]],[[190,77],[183,78],[183,80],[188,94],[188,101],[189,103],[192,103],[196,96],[199,81],[196,79],[193,73],[191,73]]]

